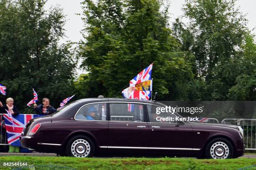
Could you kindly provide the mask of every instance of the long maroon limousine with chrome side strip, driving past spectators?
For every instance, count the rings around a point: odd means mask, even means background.
[[[140,153],[226,159],[243,155],[240,127],[177,121],[180,115],[156,114],[157,107],[165,105],[117,98],[77,100],[52,115],[30,120],[20,143],[38,152],[74,157]]]

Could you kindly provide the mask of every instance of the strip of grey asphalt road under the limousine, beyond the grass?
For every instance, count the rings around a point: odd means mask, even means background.
[[[0,156],[57,156],[54,153],[0,153]],[[95,157],[96,158],[96,157]],[[106,157],[97,157],[106,158]],[[123,158],[123,157],[113,157],[113,158]],[[254,155],[243,155],[240,158],[256,158],[256,153]]]

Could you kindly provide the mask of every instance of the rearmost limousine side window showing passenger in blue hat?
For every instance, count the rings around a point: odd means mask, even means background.
[[[76,120],[107,120],[107,104],[94,103],[82,106],[75,116]]]

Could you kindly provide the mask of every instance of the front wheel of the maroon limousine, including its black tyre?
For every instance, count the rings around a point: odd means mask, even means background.
[[[228,159],[233,158],[233,145],[225,138],[215,138],[211,140],[205,150],[206,158]]]

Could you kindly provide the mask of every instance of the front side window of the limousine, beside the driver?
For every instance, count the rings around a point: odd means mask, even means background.
[[[176,121],[176,115],[170,112],[159,112],[157,108],[160,106],[156,105],[146,105],[148,110],[148,117],[150,122],[155,123],[180,123],[183,124],[184,122]],[[159,113],[159,114],[157,114]]]

